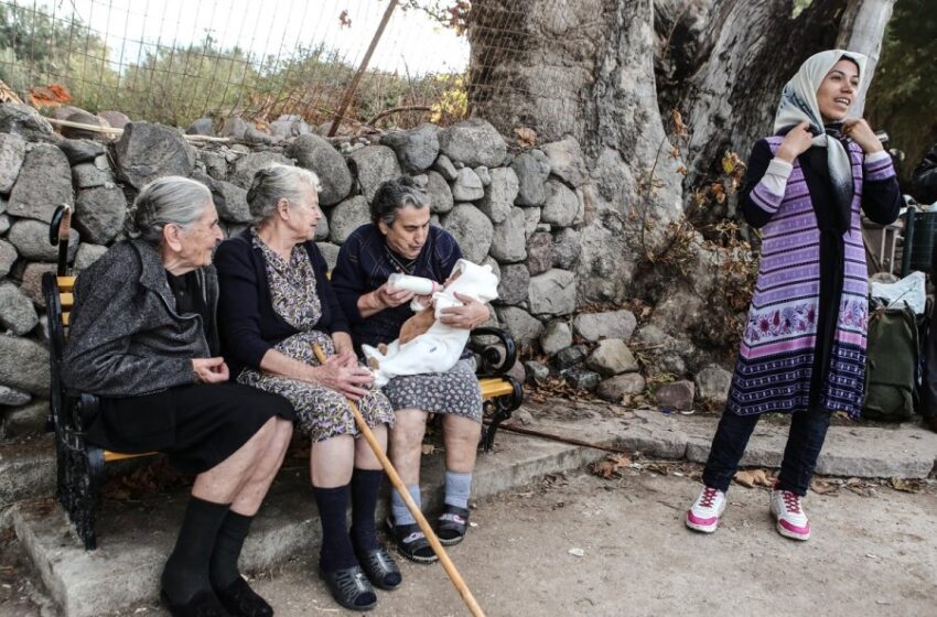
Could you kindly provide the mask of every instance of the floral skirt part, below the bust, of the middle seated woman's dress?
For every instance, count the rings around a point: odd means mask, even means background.
[[[326,356],[335,355],[332,338],[316,329],[294,334],[278,343],[274,348],[294,360],[319,366],[319,360],[312,350],[315,343],[322,347]],[[238,383],[280,394],[293,403],[297,413],[297,427],[314,442],[338,435],[358,435],[352,408],[345,397],[336,390],[308,381],[269,375],[251,368],[244,369],[237,380]],[[370,390],[357,401],[357,405],[368,426],[394,424],[394,409],[380,390]]]

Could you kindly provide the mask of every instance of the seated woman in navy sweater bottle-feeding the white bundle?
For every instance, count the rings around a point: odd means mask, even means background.
[[[390,288],[390,274],[401,272],[442,283],[462,251],[448,231],[430,226],[429,199],[408,177],[385,182],[371,202],[370,215],[373,223],[356,229],[342,245],[332,284],[352,322],[355,344],[376,347],[396,339],[400,326],[413,314],[409,307],[413,293]],[[488,318],[487,306],[456,296],[463,305],[444,310],[442,323],[471,328]],[[449,371],[395,377],[383,389],[397,413],[390,459],[417,504],[427,413],[442,414],[445,507],[438,533],[443,544],[456,544],[468,526],[468,496],[482,426],[474,357],[463,353]],[[391,495],[391,531],[400,552],[416,562],[435,561],[429,541],[397,492]]]

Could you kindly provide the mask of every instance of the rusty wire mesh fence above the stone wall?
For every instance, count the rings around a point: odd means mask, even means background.
[[[485,48],[470,69],[472,8],[465,0],[0,0],[0,79],[40,108],[111,109],[179,127],[284,115],[313,126],[336,116],[353,126],[448,125],[471,112],[470,90],[497,96],[493,72],[524,48],[518,11],[498,12],[478,24],[473,40]]]

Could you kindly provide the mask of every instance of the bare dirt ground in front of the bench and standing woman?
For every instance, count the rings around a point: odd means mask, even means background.
[[[668,469],[665,469],[668,470]],[[814,537],[777,534],[765,488],[733,486],[713,535],[683,528],[698,469],[625,469],[553,476],[477,504],[474,527],[450,555],[489,616],[937,615],[937,489],[826,485],[805,502]],[[675,475],[678,474],[678,475]],[[22,572],[8,538],[0,554],[0,615],[55,615]],[[465,615],[439,565],[400,560],[401,588],[378,592],[375,616]],[[351,614],[315,576],[315,559],[258,576],[279,617]],[[163,617],[141,606],[126,615]]]

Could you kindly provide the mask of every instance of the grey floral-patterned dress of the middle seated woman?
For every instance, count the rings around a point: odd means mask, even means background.
[[[267,262],[273,310],[299,331],[274,348],[295,360],[319,366],[312,346],[317,343],[326,356],[335,355],[335,346],[331,336],[315,329],[322,317],[322,303],[315,289],[315,273],[309,253],[301,245],[297,245],[287,262],[256,232],[251,234],[251,241],[255,248],[260,249]],[[336,390],[252,368],[245,368],[237,380],[287,398],[295,409],[298,427],[315,442],[337,435],[358,434],[352,410],[345,397]],[[394,423],[394,410],[380,390],[370,390],[358,401],[358,409],[369,426]]]

